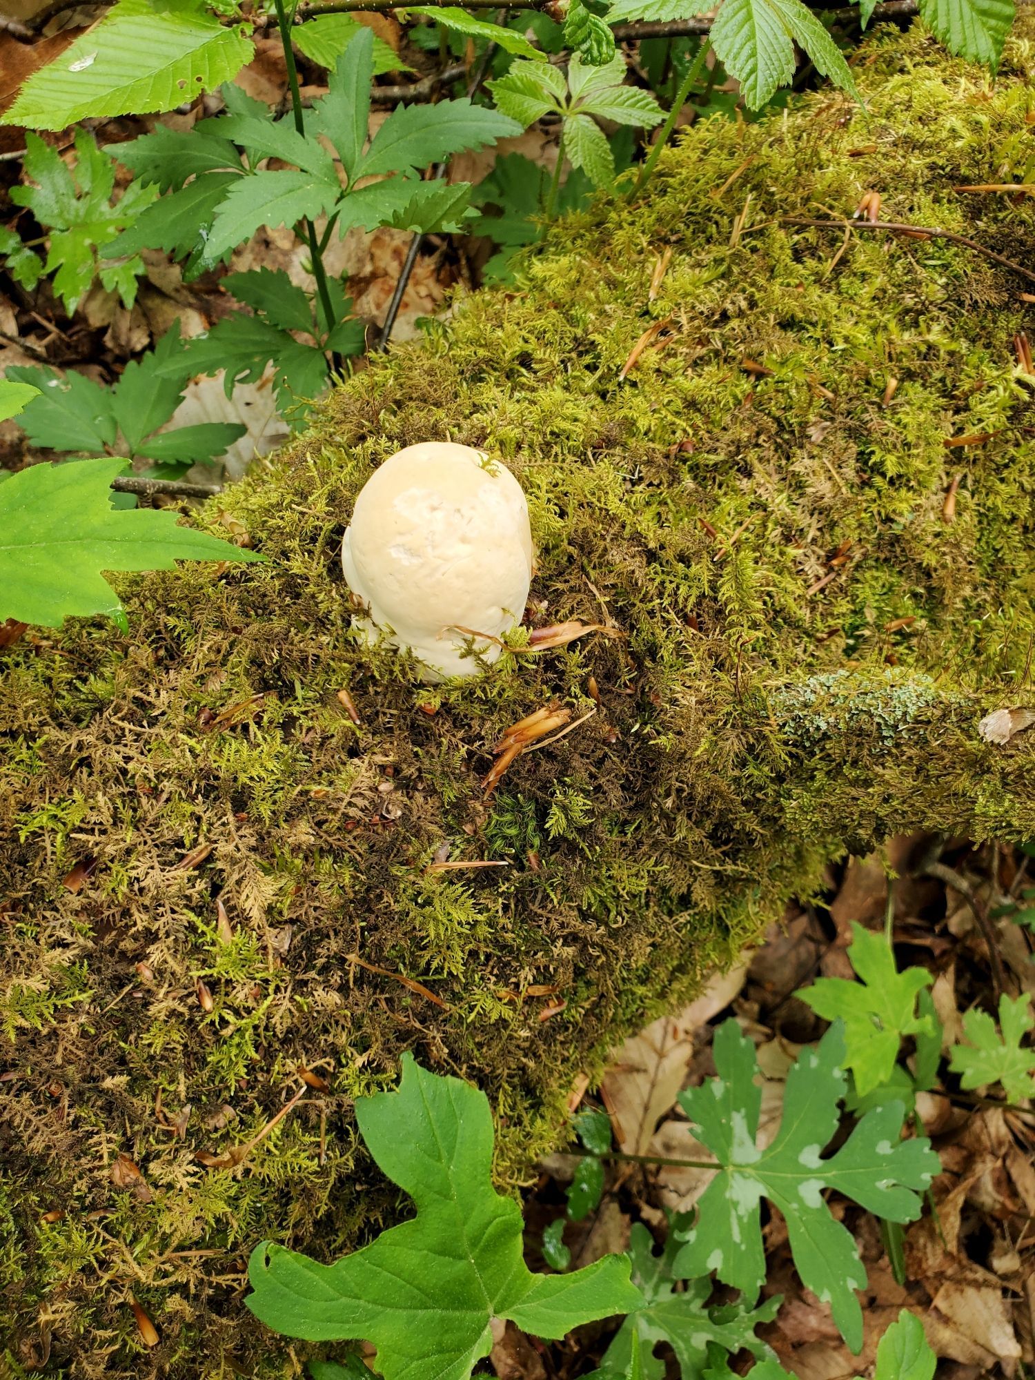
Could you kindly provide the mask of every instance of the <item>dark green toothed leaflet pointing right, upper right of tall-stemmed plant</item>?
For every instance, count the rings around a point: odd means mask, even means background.
[[[437,105],[399,105],[371,139],[355,175],[407,172],[520,132],[506,115],[475,105],[468,97]]]

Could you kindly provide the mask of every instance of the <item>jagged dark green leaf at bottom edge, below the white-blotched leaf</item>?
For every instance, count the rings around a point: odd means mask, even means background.
[[[709,1308],[711,1279],[691,1279],[679,1290],[678,1281],[683,1276],[675,1270],[678,1252],[679,1243],[672,1232],[664,1252],[656,1254],[647,1228],[642,1223],[632,1228],[632,1281],[642,1290],[643,1303],[625,1319],[599,1370],[588,1380],[624,1380],[636,1341],[644,1380],[664,1380],[665,1362],[654,1355],[660,1341],[672,1347],[683,1380],[697,1380],[716,1351],[736,1354],[747,1348],[755,1357],[771,1357],[769,1347],[755,1336],[755,1329],[762,1322],[773,1321],[781,1299],[767,1299],[753,1310],[742,1304]]]

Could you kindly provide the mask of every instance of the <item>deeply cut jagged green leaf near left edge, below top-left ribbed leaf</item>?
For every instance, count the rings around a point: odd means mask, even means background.
[[[23,167],[32,184],[11,188],[11,200],[26,206],[48,232],[43,270],[54,273],[54,291],[65,309],[75,312],[97,276],[132,306],[144,259],[120,246],[117,262],[109,262],[98,258],[98,247],[131,225],[156,190],[131,182],[112,206],[115,161],[86,130],[76,131],[75,174],[55,148],[32,132],[25,137]]]

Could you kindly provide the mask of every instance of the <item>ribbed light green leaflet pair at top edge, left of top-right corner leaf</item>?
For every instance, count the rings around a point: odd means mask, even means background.
[[[795,43],[824,76],[860,99],[840,50],[802,0],[723,0],[712,25],[712,48],[752,110],[769,101],[778,86],[793,80]]]

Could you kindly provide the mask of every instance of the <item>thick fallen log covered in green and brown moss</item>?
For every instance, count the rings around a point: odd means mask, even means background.
[[[701,121],[642,199],[566,219],[524,290],[374,362],[208,506],[268,564],[126,578],[130,636],[3,653],[18,1363],[295,1373],[243,1261],[264,1236],[334,1256],[403,1208],[351,1110],[402,1050],[489,1093],[515,1185],[577,1076],[832,858],[1035,836],[1035,734],[977,733],[1031,698],[1031,284],[951,240],[788,224],[876,190],[889,221],[1035,265],[1031,199],[955,190],[1027,159],[1031,33],[992,81],[886,32],[865,110],[825,90]],[[446,437],[524,486],[529,624],[606,632],[526,632],[435,689],[353,638],[355,495]],[[553,701],[596,712],[487,796],[493,744]],[[429,872],[443,851],[508,865]],[[316,1086],[264,1136],[299,1067]]]

